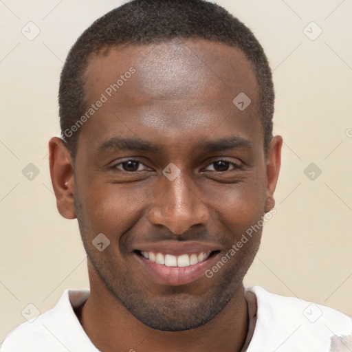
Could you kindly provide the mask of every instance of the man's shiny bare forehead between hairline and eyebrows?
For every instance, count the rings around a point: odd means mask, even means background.
[[[245,111],[233,103],[239,94],[251,100]],[[175,40],[94,54],[85,71],[87,107],[102,95],[106,101],[87,123],[96,138],[132,129],[206,135],[229,116],[249,133],[260,124],[252,65],[239,48],[220,43]]]

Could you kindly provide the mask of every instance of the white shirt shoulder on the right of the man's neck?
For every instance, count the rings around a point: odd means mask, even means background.
[[[319,352],[351,350],[352,320],[349,316],[299,298],[272,294],[259,286],[248,287],[246,291],[255,294],[258,305],[253,338],[270,348],[281,346],[280,351]],[[348,346],[346,350],[334,347],[341,342]]]

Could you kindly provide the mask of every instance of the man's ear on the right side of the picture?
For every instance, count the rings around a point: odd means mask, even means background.
[[[278,181],[278,173],[281,166],[281,147],[283,146],[283,137],[275,135],[267,151],[267,199],[265,203],[265,212],[269,212],[275,206],[274,191]]]

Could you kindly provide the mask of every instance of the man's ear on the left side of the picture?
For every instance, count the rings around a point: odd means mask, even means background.
[[[74,210],[74,162],[61,138],[49,141],[50,177],[58,212],[66,219],[76,219]]]

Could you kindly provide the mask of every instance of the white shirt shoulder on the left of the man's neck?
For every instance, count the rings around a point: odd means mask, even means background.
[[[74,303],[87,299],[89,290],[66,290],[56,306],[36,318],[23,322],[3,341],[1,352],[36,351],[67,352],[63,341],[67,333],[80,333],[80,324],[73,310]],[[72,302],[72,300],[74,302]]]

